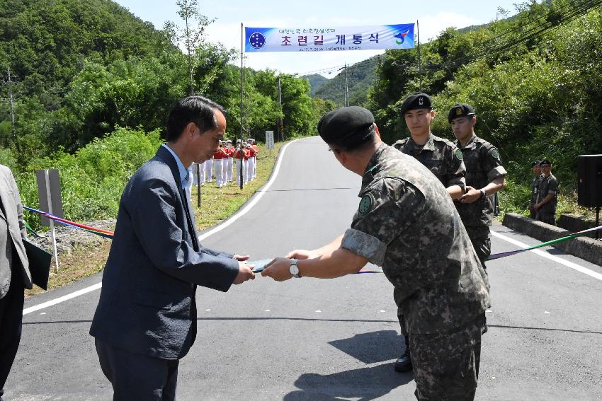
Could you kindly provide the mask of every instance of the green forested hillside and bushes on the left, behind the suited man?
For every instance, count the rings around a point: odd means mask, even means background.
[[[118,194],[152,156],[169,109],[190,93],[181,42],[167,25],[156,30],[109,0],[0,2],[0,163],[13,169],[25,204],[38,206],[33,170],[59,168],[68,218],[115,215]],[[240,133],[237,57],[204,40],[191,52],[194,93],[227,108],[230,138]],[[307,79],[280,79],[282,110],[275,71],[245,69],[245,136],[263,140],[280,117],[286,138],[314,134],[334,107],[309,97]]]

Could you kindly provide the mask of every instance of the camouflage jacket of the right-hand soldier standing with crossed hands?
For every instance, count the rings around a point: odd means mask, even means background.
[[[476,135],[460,147],[460,141],[454,144],[462,151],[466,166],[466,185],[480,190],[501,175],[506,175],[506,169],[501,165],[499,153],[495,146]],[[454,202],[455,208],[467,228],[484,228],[492,225],[494,206],[491,197],[481,197],[472,203]]]

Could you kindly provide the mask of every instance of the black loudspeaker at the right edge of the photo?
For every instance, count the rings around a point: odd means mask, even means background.
[[[602,207],[602,155],[577,156],[577,203]]]

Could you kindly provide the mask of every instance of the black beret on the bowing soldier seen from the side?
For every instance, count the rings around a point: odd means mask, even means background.
[[[359,106],[339,107],[327,112],[318,122],[318,133],[326,144],[346,144],[355,134],[374,124],[370,110]]]

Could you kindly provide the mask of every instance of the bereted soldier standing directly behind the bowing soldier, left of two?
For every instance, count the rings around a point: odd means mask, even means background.
[[[414,156],[441,181],[452,199],[459,199],[464,194],[466,185],[462,152],[451,141],[431,133],[431,120],[435,117],[431,96],[420,92],[409,95],[402,103],[400,112],[410,136],[395,142],[394,148]],[[402,298],[397,289],[393,290],[393,299],[397,304],[397,318],[406,344],[402,356],[395,361],[394,368],[398,372],[407,372],[411,371],[409,340],[404,332],[404,316],[400,306]]]

